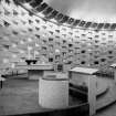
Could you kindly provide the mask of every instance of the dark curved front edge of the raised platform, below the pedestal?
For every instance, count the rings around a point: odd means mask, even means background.
[[[88,103],[82,105],[68,106],[66,108],[53,109],[48,112],[36,112],[30,114],[15,114],[15,115],[6,115],[6,116],[89,116],[89,106]]]

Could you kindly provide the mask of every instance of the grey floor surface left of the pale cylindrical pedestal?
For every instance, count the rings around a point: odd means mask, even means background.
[[[38,104],[38,82],[9,80],[0,91],[0,116],[46,110]]]

